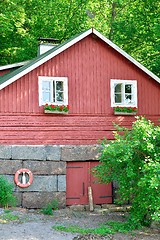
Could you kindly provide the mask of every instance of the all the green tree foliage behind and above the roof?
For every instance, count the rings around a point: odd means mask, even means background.
[[[3,0],[0,64],[30,60],[37,38],[60,42],[94,27],[159,75],[159,1]]]

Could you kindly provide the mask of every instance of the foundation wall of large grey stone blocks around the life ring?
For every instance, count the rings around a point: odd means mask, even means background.
[[[53,199],[66,206],[67,161],[97,160],[99,146],[0,146],[0,175],[14,184],[17,206],[42,208]],[[27,168],[33,183],[20,188],[14,183],[17,170]]]

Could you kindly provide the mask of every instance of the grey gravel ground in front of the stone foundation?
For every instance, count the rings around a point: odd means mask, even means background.
[[[83,228],[99,227],[107,221],[125,221],[124,213],[78,212],[68,208],[53,212],[53,216],[38,213],[38,211],[23,208],[12,209],[9,213],[18,216],[17,219],[3,219],[4,210],[0,209],[0,239],[1,240],[160,240],[160,233],[153,229],[134,231],[133,233],[98,236],[93,234],[80,235],[55,231],[55,225],[78,225]],[[11,219],[9,217],[9,219]]]

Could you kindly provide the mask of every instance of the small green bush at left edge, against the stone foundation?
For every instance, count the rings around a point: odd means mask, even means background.
[[[14,206],[16,198],[13,196],[13,185],[3,176],[0,176],[0,205],[3,207]]]

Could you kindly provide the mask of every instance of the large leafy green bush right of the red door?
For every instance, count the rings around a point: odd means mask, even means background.
[[[115,127],[115,140],[102,143],[102,164],[93,172],[100,182],[117,181],[119,203],[132,203],[130,221],[149,226],[160,216],[160,126],[137,117],[130,130]]]

